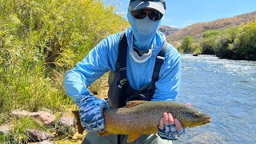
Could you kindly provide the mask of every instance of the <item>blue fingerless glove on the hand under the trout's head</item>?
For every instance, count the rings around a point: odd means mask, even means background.
[[[162,139],[177,140],[182,134],[185,134],[185,129],[176,130],[175,125],[165,125],[163,129],[158,128],[158,135]]]

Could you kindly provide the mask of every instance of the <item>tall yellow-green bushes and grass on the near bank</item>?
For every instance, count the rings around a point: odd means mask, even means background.
[[[14,124],[10,134],[0,135],[0,143],[26,142],[24,130],[40,126],[14,118],[11,111],[45,107],[54,114],[69,113],[74,103],[63,89],[66,71],[106,35],[129,24],[113,13],[114,6],[104,7],[102,1],[0,3],[0,125]],[[106,79],[107,74],[90,86],[98,97],[106,97]]]

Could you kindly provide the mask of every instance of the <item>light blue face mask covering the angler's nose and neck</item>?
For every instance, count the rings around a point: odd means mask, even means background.
[[[158,30],[158,26],[160,26],[161,20],[152,21],[148,16],[137,19],[130,14],[130,10],[128,10],[127,18],[134,35],[134,45],[138,50],[149,50],[152,47],[151,41]]]

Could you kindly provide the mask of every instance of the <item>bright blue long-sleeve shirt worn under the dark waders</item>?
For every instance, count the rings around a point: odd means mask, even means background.
[[[69,70],[64,78],[64,88],[66,94],[76,101],[79,95],[89,94],[86,87],[90,86],[96,79],[100,78],[109,70],[115,70],[115,64],[118,58],[118,44],[122,33],[112,34],[102,42],[99,42],[93,50],[82,60],[78,62],[74,69]],[[149,60],[143,63],[134,62],[130,56],[132,31],[126,30],[127,59],[126,73],[130,86],[134,90],[142,88],[151,82],[154,71],[155,59],[161,50],[166,38],[161,32],[154,36],[152,44],[154,49]],[[155,90],[152,101],[174,101],[178,94],[181,78],[181,55],[169,43],[166,47],[165,62],[162,64],[159,79],[155,82]]]

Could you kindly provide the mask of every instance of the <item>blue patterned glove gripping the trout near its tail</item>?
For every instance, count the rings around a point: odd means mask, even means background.
[[[96,132],[105,131],[103,109],[110,108],[104,99],[96,98],[90,94],[81,95],[77,99],[81,124],[85,130]]]

